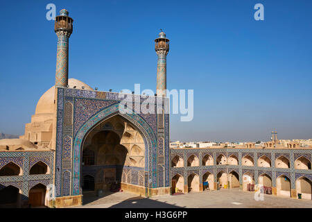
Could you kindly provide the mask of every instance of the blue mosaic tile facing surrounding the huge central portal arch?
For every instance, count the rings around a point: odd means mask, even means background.
[[[112,92],[96,92],[80,89],[58,88],[58,126],[56,142],[56,165],[55,165],[55,187],[56,195],[67,195],[70,189],[71,195],[81,193],[80,189],[80,146],[83,143],[85,135],[92,130],[97,123],[105,121],[116,114],[130,121],[137,130],[139,130],[146,144],[145,169],[136,169],[135,167],[123,167],[122,180],[127,180],[133,185],[143,185],[148,187],[170,186],[170,157],[169,155],[169,130],[168,114],[165,114],[164,135],[164,157],[158,158],[158,131],[156,114],[122,114],[119,112],[119,103],[124,94]],[[129,96],[129,95],[128,95]],[[132,96],[143,102],[146,96]],[[64,124],[64,117],[68,116],[64,112],[63,104],[73,103],[73,126],[68,128]],[[168,101],[167,101],[168,102]],[[70,109],[69,109],[70,110]],[[73,138],[71,141],[69,138]],[[69,157],[69,151],[71,156]],[[63,157],[65,155],[65,157]],[[64,160],[63,160],[64,158]],[[164,159],[165,175],[161,175],[162,186],[159,185],[159,170],[157,160]],[[69,160],[72,161],[69,169]],[[64,169],[64,166],[67,169]],[[68,176],[64,171],[71,173],[70,186],[68,185]],[[94,171],[96,173],[98,171]],[[63,175],[62,175],[63,174]],[[151,181],[151,182],[148,182]],[[164,185],[165,183],[165,185]]]

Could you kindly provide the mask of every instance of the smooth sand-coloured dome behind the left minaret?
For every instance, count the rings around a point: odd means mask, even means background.
[[[81,87],[85,87],[87,90],[93,90],[89,85],[77,80],[75,78],[69,78],[68,80],[69,88],[73,88],[76,85],[77,89],[81,89]],[[53,113],[54,109],[54,92],[55,86],[51,87],[48,91],[46,91],[40,98],[37,103],[35,114],[48,114]]]

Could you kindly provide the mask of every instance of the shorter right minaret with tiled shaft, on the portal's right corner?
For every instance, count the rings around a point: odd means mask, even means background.
[[[155,39],[155,51],[157,60],[157,96],[166,96],[166,58],[169,51],[169,40],[166,34],[161,30],[157,39]]]

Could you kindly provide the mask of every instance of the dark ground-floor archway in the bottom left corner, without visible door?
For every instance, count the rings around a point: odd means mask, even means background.
[[[0,185],[0,207],[19,207],[21,202],[21,191],[17,187]]]

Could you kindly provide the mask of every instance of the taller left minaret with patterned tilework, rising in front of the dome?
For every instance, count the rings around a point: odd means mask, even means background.
[[[56,54],[55,87],[68,85],[68,44],[73,32],[73,19],[66,9],[60,10],[55,17],[54,31],[58,35],[58,52]]]

